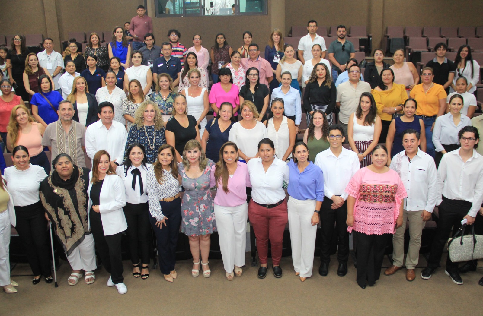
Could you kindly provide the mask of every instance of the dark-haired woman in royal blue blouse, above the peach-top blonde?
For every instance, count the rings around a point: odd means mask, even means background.
[[[59,119],[57,110],[59,102],[64,100],[58,91],[52,91],[52,82],[49,76],[39,77],[39,92],[32,96],[30,105],[32,106],[32,116],[47,127],[48,124]]]

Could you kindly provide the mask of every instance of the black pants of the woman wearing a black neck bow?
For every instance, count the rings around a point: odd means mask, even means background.
[[[149,235],[151,226],[149,225],[149,206],[148,203],[131,204],[124,206],[124,216],[128,222],[126,233],[129,239],[129,253],[132,264],[149,264]]]

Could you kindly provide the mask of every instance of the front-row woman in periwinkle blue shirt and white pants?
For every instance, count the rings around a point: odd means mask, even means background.
[[[288,225],[295,275],[300,275],[303,282],[312,276],[315,235],[324,200],[324,177],[322,170],[309,161],[305,143],[295,144],[292,157],[288,163]]]

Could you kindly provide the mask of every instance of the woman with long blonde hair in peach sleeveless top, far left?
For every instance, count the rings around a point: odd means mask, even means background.
[[[35,122],[25,105],[17,105],[10,114],[7,125],[7,149],[13,151],[22,145],[28,149],[30,163],[43,167],[46,174],[50,172],[50,163],[43,151],[42,137],[45,127]]]

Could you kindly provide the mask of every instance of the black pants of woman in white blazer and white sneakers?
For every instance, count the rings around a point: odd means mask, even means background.
[[[124,277],[122,276],[124,268],[121,256],[122,233],[104,235],[100,213],[95,212],[92,208],[89,213],[89,219],[94,242],[104,268],[111,275],[111,280],[114,284],[124,282]]]

